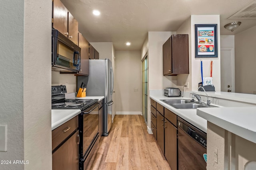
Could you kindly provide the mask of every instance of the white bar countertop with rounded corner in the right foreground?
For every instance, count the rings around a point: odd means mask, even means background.
[[[256,107],[198,108],[198,116],[256,143]]]

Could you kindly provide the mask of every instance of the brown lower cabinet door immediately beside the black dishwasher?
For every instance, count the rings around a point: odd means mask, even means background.
[[[164,156],[172,170],[177,170],[177,130],[170,121],[164,119]]]

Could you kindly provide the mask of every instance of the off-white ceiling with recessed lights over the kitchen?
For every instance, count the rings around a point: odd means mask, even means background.
[[[234,35],[256,19],[227,19],[253,0],[61,0],[89,42],[113,42],[115,50],[140,50],[148,31],[176,31],[191,15],[220,15],[220,35]],[[94,16],[92,10],[99,10]],[[242,24],[233,32],[224,25]],[[126,41],[132,44],[125,45]]]

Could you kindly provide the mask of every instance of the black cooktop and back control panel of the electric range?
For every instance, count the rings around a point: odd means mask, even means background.
[[[97,99],[66,99],[66,86],[52,86],[52,109],[80,109],[87,108],[97,103]]]

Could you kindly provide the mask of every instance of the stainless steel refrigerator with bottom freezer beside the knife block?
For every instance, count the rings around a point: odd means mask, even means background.
[[[112,94],[114,75],[112,62],[109,59],[89,60],[89,77],[86,96],[104,96],[103,134],[108,136],[112,126]]]

